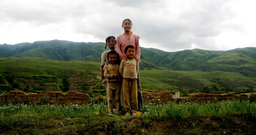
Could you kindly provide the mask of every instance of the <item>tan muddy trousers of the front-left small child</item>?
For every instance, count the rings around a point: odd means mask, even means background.
[[[108,112],[113,113],[114,107],[120,111],[120,83],[108,83]]]

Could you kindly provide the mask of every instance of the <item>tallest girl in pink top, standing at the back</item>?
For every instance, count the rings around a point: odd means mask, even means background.
[[[120,60],[127,60],[125,54],[125,47],[128,45],[132,45],[135,47],[135,60],[140,62],[140,46],[139,46],[139,36],[133,34],[131,31],[133,23],[130,19],[123,20],[122,27],[124,29],[124,33],[117,37],[117,53],[120,57]],[[137,84],[138,84],[138,111],[142,112],[142,90],[140,86],[140,75],[138,72],[137,76]],[[121,90],[122,91],[122,90]],[[122,98],[122,97],[121,97]]]

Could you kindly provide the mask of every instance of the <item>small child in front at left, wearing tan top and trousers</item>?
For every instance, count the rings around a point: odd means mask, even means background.
[[[116,106],[117,112],[120,111],[120,65],[117,64],[118,54],[116,51],[108,52],[107,59],[109,61],[109,65],[105,67],[104,77],[107,79],[108,83],[108,112],[109,114],[113,114],[113,106]],[[113,102],[113,99],[115,102]]]

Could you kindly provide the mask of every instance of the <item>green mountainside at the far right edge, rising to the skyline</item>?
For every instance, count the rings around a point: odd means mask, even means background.
[[[201,71],[237,71],[245,76],[256,75],[256,49],[252,47],[238,48],[232,51],[221,52],[206,62],[199,70]]]

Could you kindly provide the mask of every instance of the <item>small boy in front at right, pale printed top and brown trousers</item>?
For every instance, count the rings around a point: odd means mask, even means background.
[[[120,64],[119,73],[123,77],[123,107],[125,110],[125,116],[131,115],[136,116],[136,111],[138,110],[138,100],[137,100],[137,76],[139,71],[139,61],[136,61],[135,47],[129,45],[125,47],[126,59],[122,59]]]

